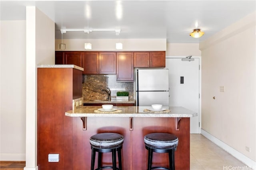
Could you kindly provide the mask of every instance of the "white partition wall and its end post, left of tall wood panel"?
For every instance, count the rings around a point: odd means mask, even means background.
[[[36,170],[36,65],[54,64],[54,21],[26,7],[26,167]]]

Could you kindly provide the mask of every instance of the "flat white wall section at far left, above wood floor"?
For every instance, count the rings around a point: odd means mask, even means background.
[[[0,160],[25,160],[26,21],[0,24]]]

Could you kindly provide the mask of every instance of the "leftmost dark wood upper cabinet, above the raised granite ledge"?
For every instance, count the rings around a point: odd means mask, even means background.
[[[74,64],[84,68],[83,58],[79,51],[56,51],[55,64]]]

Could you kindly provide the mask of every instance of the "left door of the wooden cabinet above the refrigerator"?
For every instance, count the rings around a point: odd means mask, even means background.
[[[149,53],[134,53],[134,67],[149,67]]]

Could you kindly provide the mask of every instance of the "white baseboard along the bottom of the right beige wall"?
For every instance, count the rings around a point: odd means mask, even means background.
[[[238,160],[240,160],[241,162],[243,162],[244,164],[246,164],[253,170],[256,170],[256,162],[254,160],[252,160],[252,159],[248,158],[247,156],[245,156],[244,154],[238,152],[236,149],[234,149],[234,148],[230,147],[229,145],[227,145],[226,143],[220,141],[219,139],[212,136],[210,133],[204,131],[203,129],[201,129],[201,135],[203,135],[204,137],[206,137],[207,139],[209,139],[210,141],[212,141],[213,143],[218,145],[220,148],[222,148],[223,150],[225,150],[226,152],[228,152],[229,154],[231,154],[232,156],[234,156],[235,158],[237,158]]]

